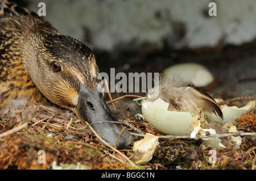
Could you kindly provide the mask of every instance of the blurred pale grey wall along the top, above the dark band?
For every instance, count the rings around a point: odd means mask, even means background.
[[[178,49],[239,45],[256,36],[255,0],[24,2],[36,12],[39,2],[46,3],[46,18],[57,30],[108,52],[145,44]],[[210,2],[216,2],[217,16],[209,16]]]

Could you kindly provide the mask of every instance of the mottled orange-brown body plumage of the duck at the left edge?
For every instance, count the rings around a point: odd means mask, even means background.
[[[16,26],[7,26],[6,21],[7,18],[0,19],[0,104],[5,105],[23,95],[32,95],[31,101],[35,102],[42,95],[23,68],[19,51],[20,32]]]

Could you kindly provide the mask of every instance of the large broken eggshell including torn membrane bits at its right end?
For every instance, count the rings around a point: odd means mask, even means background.
[[[205,132],[216,134],[216,131],[212,128],[202,128],[204,124],[207,124],[204,123],[207,120],[197,120],[197,117],[192,116],[189,112],[168,111],[168,106],[169,103],[164,102],[160,98],[154,102],[147,99],[142,103],[142,113],[152,127],[164,134],[176,136],[191,135],[191,138],[195,138],[196,134],[205,135]],[[209,137],[202,138],[202,140],[206,145],[212,145],[214,148],[219,148],[220,146],[225,148],[221,144],[220,138]]]

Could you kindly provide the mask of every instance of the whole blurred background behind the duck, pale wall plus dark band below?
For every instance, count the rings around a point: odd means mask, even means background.
[[[255,0],[14,0],[96,54],[100,71],[159,72],[182,62],[214,76],[211,95],[256,95]],[[209,16],[210,2],[217,16]]]

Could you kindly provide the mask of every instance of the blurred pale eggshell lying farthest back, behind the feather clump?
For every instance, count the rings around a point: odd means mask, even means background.
[[[195,63],[177,64],[163,71],[164,78],[172,79],[174,75],[180,75],[185,81],[191,81],[197,87],[207,86],[214,81],[212,73],[207,68]]]

